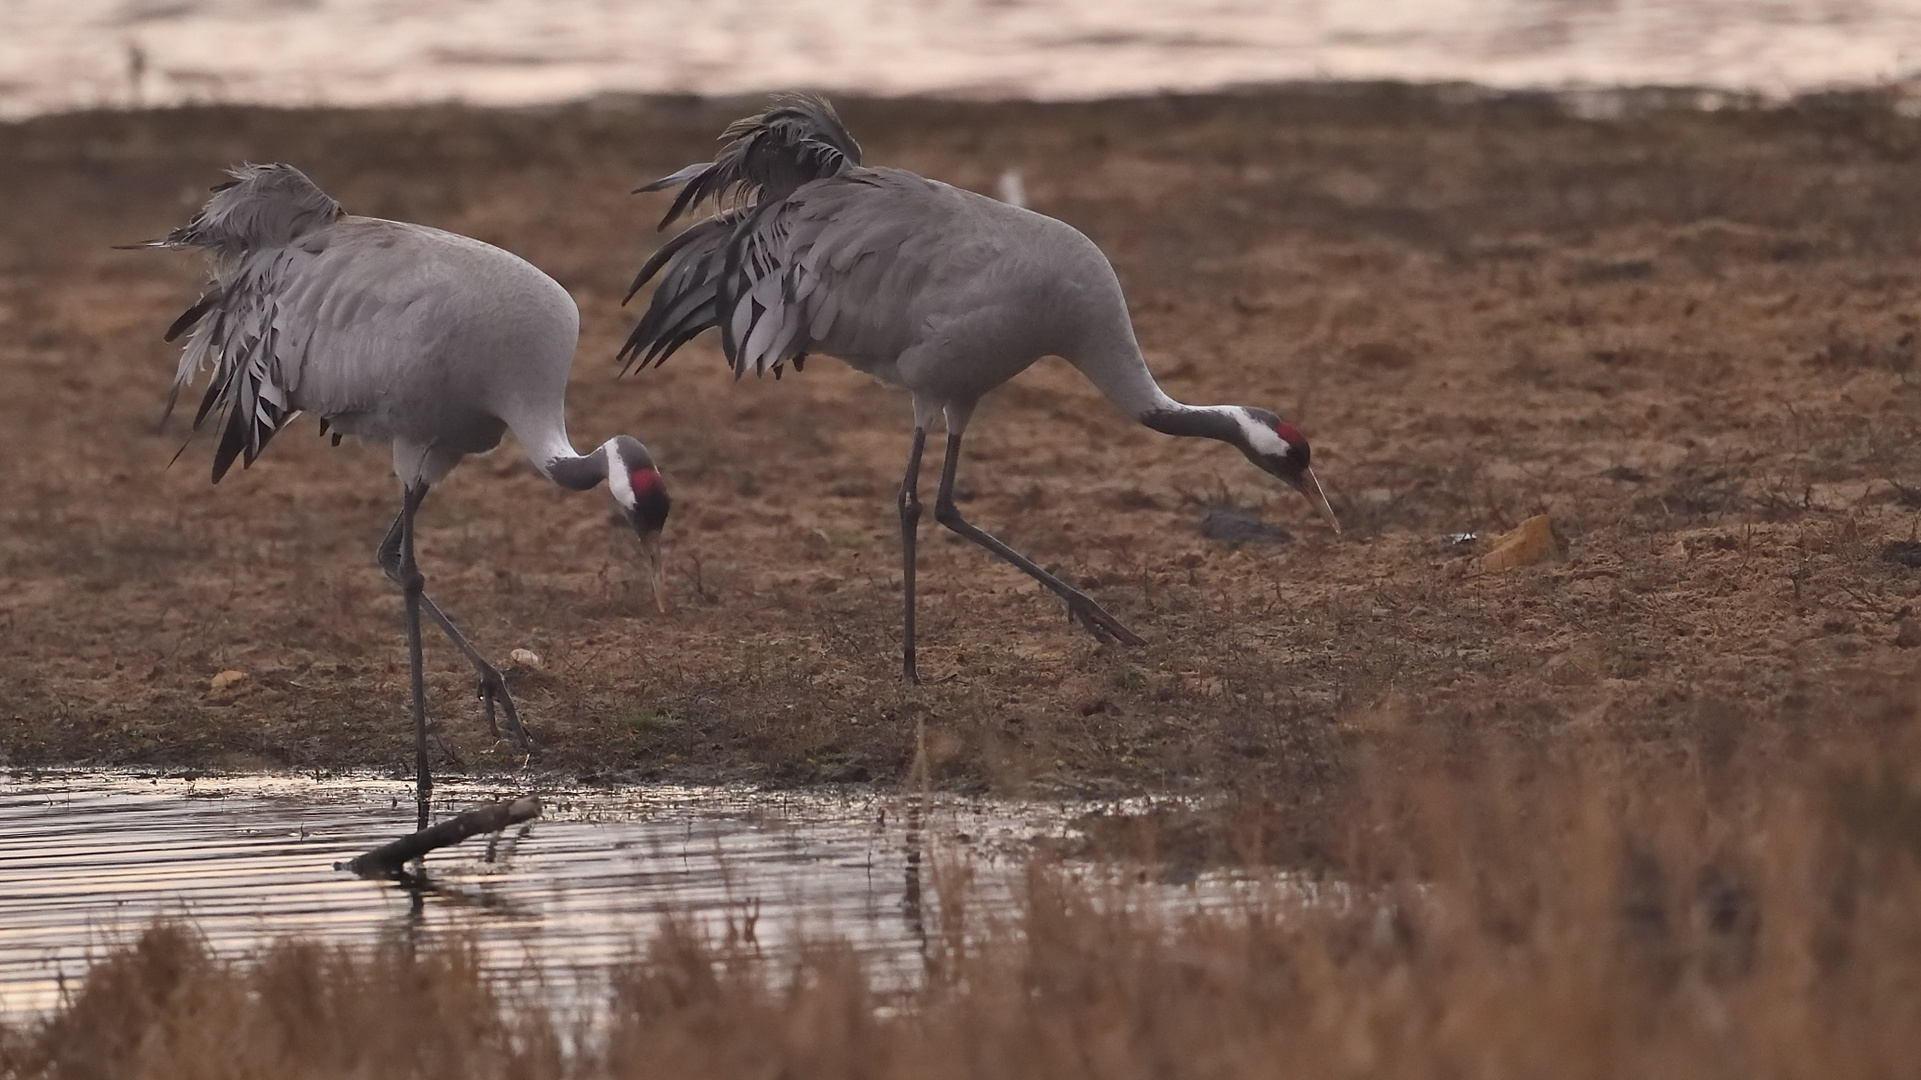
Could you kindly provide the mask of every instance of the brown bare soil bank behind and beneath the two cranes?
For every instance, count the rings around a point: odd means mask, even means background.
[[[584,321],[576,442],[632,432],[667,467],[669,617],[607,498],[511,446],[426,505],[428,590],[492,655],[544,657],[513,676],[536,769],[891,780],[924,721],[955,786],[1312,799],[1410,734],[1796,755],[1915,667],[1921,571],[1890,546],[1921,521],[1921,123],[1883,102],[841,104],[872,163],[1020,169],[1114,259],[1174,396],[1310,434],[1347,532],[1043,361],[976,417],[962,509],[1149,644],[1095,644],[928,521],[909,688],[905,396],[830,359],[736,384],[707,340],[613,377],[665,208],[628,188],[755,102],[44,117],[0,127],[0,763],[409,767],[384,450],[300,421],[209,486],[209,442],[169,467],[184,429],[156,427],[202,267],[109,244],[242,160],[553,273]],[[1214,505],[1293,540],[1208,540]],[[1477,573],[1450,538],[1533,513],[1548,565]],[[432,636],[428,667],[442,767],[521,767]],[[248,678],[209,690],[225,669]]]

